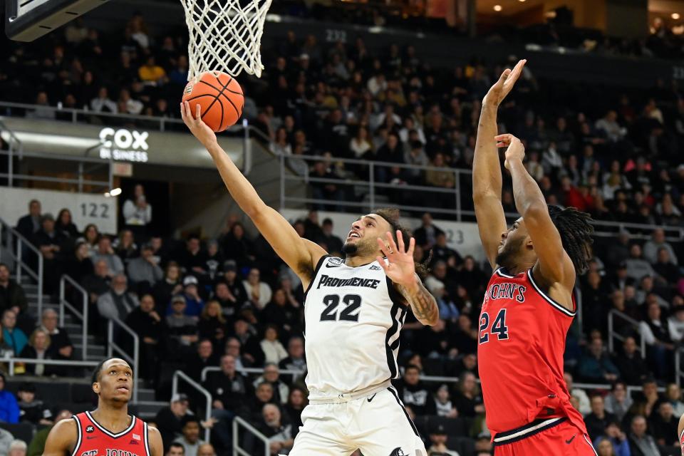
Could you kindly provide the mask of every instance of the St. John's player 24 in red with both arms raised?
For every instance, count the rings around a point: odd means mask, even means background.
[[[475,214],[494,269],[477,349],[487,427],[497,456],[596,455],[563,380],[575,279],[591,258],[589,215],[547,206],[523,165],[522,142],[497,136],[497,109],[525,62],[504,71],[484,97],[473,162]],[[504,166],[522,215],[510,228],[497,150],[504,146]]]

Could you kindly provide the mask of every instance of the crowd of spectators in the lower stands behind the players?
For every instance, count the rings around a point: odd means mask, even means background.
[[[38,232],[55,231],[40,202],[28,207],[26,217],[36,217]],[[311,211],[294,228],[331,254],[340,254],[342,240],[333,234],[331,219],[320,221]],[[46,267],[46,276],[66,272],[88,291],[91,331],[103,333],[108,318],[133,328],[141,341],[140,376],[160,391],[160,399],[168,398],[170,373],[176,369],[212,395],[212,419],[207,422],[193,415],[202,400],[191,390],[160,411],[155,423],[167,448],[177,441],[186,454],[194,454],[202,444],[202,429],[211,427],[211,443],[224,454],[233,438],[232,419],[239,415],[269,437],[274,454],[287,450],[306,405],[304,294],[299,279],[263,237],[253,237],[237,217],[229,217],[222,235],[208,241],[195,235],[182,240],[135,237],[124,228],[112,242],[94,225],[81,232],[66,215],[58,229],[64,239],[56,249],[60,256],[47,267],[60,272]],[[39,240],[46,236],[36,233],[29,239],[38,239],[42,250]],[[403,378],[396,387],[432,451],[485,455],[491,447],[477,384],[477,317],[489,270],[450,248],[444,230],[428,213],[414,234],[415,259],[425,261],[432,252],[425,285],[437,299],[441,319],[423,327],[408,316],[400,345]],[[597,448],[606,446],[605,440],[619,455],[639,454],[634,448],[645,455],[676,450],[676,432],[668,430],[684,412],[680,389],[673,383],[675,350],[684,335],[681,249],[681,244],[668,242],[663,229],[655,229],[646,242],[626,232],[615,239],[596,238],[590,270],[579,282],[584,318],[571,328],[565,360],[573,403],[585,415]],[[25,310],[26,296],[9,279],[6,266],[0,266],[0,302],[5,350],[28,358],[72,356],[73,345],[56,327],[54,311],[46,310],[36,328]],[[609,352],[607,321],[613,310],[639,325],[616,318],[613,328],[624,341]],[[646,356],[640,352],[642,338]],[[263,373],[247,374],[245,368],[253,367]],[[209,370],[203,374],[205,368]],[[25,371],[68,374],[40,364]],[[422,375],[459,381],[426,382]],[[611,385],[611,390],[575,388],[574,380]],[[635,386],[636,393],[628,393],[627,385]],[[658,386],[666,387],[665,393],[658,393]],[[245,445],[257,444],[248,439]],[[653,445],[659,452],[648,452]],[[626,452],[628,447],[633,453]]]

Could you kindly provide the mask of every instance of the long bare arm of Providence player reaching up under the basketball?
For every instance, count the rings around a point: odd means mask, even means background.
[[[187,101],[181,103],[180,113],[185,125],[190,128],[195,138],[207,147],[228,192],[240,209],[257,225],[257,229],[271,244],[276,254],[296,272],[306,289],[312,279],[314,267],[326,251],[318,244],[299,237],[299,234],[279,212],[266,206],[247,177],[242,175],[242,172],[221,148],[214,132],[202,121],[199,110],[200,107],[197,105],[197,113],[193,116],[190,103]]]

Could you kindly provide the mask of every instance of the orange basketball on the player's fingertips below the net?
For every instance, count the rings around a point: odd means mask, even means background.
[[[197,105],[202,107],[202,120],[215,132],[235,125],[242,115],[244,95],[232,76],[219,71],[207,71],[187,83],[183,101],[190,103],[192,115]]]

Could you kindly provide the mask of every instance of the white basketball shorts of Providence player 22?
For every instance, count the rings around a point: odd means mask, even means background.
[[[393,386],[340,403],[309,404],[289,456],[427,456]]]

